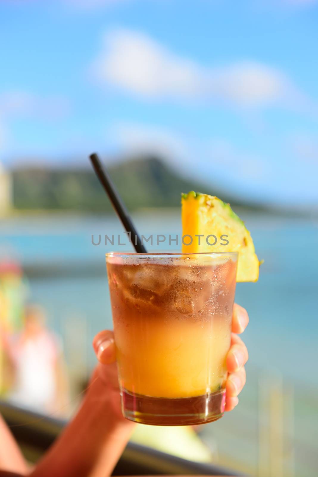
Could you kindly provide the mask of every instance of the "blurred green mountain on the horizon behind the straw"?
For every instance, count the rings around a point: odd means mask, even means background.
[[[179,207],[181,192],[203,191],[220,195],[232,205],[228,194],[179,176],[157,157],[131,159],[108,167],[119,194],[129,210],[139,207]],[[25,168],[13,176],[16,209],[71,209],[108,211],[111,204],[94,172],[89,169]]]

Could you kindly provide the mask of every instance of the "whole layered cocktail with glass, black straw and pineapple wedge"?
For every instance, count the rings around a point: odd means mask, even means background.
[[[236,280],[258,280],[250,234],[229,204],[190,191],[181,195],[191,239],[183,254],[145,253],[99,157],[89,157],[138,252],[106,254],[123,415],[156,425],[214,421],[225,408]],[[211,249],[215,233],[221,243]],[[203,247],[193,243],[202,237]]]

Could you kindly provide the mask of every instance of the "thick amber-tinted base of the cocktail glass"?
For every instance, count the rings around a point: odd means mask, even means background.
[[[121,392],[126,419],[149,425],[196,425],[216,421],[224,414],[225,389],[195,397],[164,398]]]

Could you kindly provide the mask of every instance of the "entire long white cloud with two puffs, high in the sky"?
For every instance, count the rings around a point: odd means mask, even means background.
[[[241,107],[308,107],[305,95],[275,68],[249,61],[207,68],[169,52],[145,34],[129,30],[105,35],[93,73],[100,83],[153,99],[221,100]]]

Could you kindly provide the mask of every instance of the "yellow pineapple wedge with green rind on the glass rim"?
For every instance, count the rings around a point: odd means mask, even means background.
[[[244,222],[230,205],[218,197],[193,191],[182,194],[181,204],[182,236],[190,235],[192,238],[190,245],[182,243],[182,252],[239,252],[236,280],[257,281],[260,263],[253,240]],[[200,239],[200,245],[199,238],[195,237],[199,234],[204,236]],[[217,238],[215,245],[209,245],[206,240],[211,234]],[[187,239],[184,240],[186,243],[190,241]],[[215,241],[213,237],[208,240],[210,244]],[[229,243],[224,245],[227,240]]]

